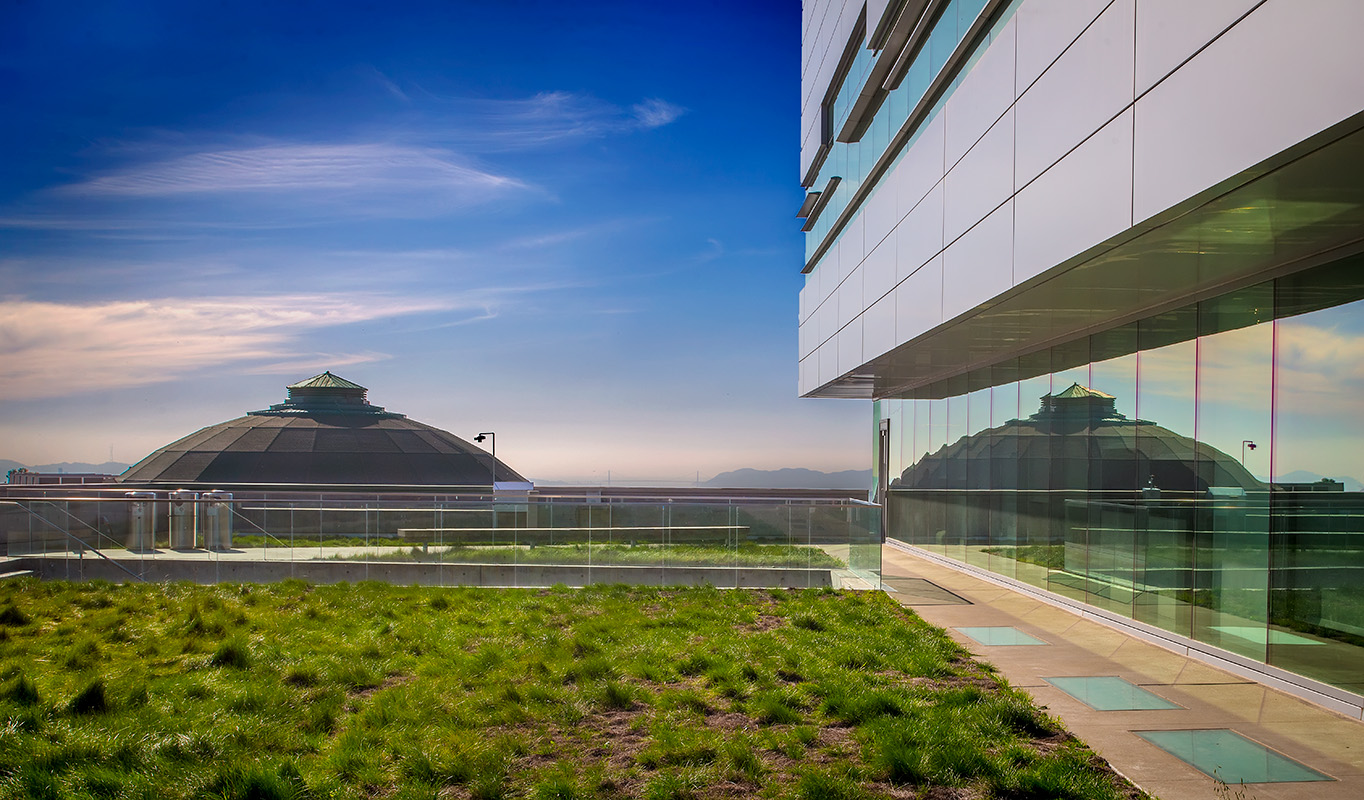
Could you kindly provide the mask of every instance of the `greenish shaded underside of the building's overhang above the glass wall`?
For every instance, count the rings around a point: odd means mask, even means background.
[[[932,394],[967,372],[1361,251],[1356,114],[805,397]]]

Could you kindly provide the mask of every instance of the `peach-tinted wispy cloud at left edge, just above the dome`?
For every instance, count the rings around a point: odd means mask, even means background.
[[[61,397],[172,380],[203,369],[297,372],[359,364],[379,352],[316,352],[321,328],[434,312],[481,313],[466,298],[293,294],[63,304],[0,300],[0,399]]]

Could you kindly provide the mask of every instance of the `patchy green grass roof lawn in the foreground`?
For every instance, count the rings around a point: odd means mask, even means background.
[[[1135,797],[878,593],[0,585],[7,797]]]

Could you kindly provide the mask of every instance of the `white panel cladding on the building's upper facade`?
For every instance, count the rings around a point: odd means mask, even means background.
[[[1023,0],[807,277],[809,391],[1360,113],[1364,1],[1258,3]]]

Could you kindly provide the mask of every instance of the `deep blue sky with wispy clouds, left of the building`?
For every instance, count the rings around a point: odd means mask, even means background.
[[[797,398],[799,16],[0,0],[0,458],[330,369],[540,480],[869,466]]]

